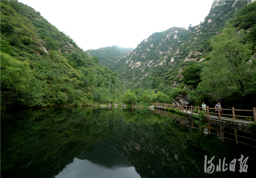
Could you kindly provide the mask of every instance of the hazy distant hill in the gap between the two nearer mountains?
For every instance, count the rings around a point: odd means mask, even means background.
[[[114,63],[119,61],[120,58],[128,51],[134,48],[121,48],[117,46],[100,48],[97,50],[87,50],[87,54],[91,57],[98,57],[100,64],[107,67],[109,70],[114,70]]]

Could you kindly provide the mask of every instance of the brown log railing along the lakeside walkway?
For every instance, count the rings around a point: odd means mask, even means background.
[[[218,107],[218,109],[215,108],[209,108],[209,106],[207,106],[206,111],[203,110],[202,107],[193,107],[191,106],[187,106],[187,104],[184,106],[183,104],[167,104],[167,103],[150,103],[151,105],[154,105],[156,107],[161,107],[161,108],[177,108],[179,109],[181,112],[186,112],[188,113],[188,111],[191,112],[191,114],[194,113],[198,113],[199,110],[201,109],[203,112],[207,113],[207,116],[210,117],[210,114],[212,115],[217,115],[219,119],[221,119],[221,116],[232,116],[233,120],[236,120],[236,117],[240,117],[240,118],[253,118],[254,122],[256,122],[256,109],[252,108],[252,110],[240,110],[240,109],[234,109],[234,107],[232,107],[232,109],[220,109],[220,107]],[[214,112],[209,112],[209,110],[218,110],[218,113],[214,113]],[[221,113],[222,111],[232,111],[232,114],[224,114]],[[252,112],[252,116],[241,116],[241,115],[236,115],[235,111],[239,111],[239,112]]]

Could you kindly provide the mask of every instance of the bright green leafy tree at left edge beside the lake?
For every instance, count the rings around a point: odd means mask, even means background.
[[[40,82],[27,61],[1,52],[1,105],[28,102],[42,97]]]

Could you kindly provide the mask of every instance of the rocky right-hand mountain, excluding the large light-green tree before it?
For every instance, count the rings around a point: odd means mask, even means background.
[[[173,104],[182,104],[179,102],[180,98],[188,97],[191,89],[197,88],[197,85],[202,81],[201,70],[204,67],[207,68],[207,61],[212,60],[216,55],[212,54],[212,40],[221,35],[226,28],[229,28],[229,24],[236,28],[236,32],[244,29],[243,43],[253,43],[255,46],[256,39],[253,35],[256,24],[254,4],[254,0],[215,0],[210,12],[199,25],[190,26],[188,29],[171,27],[162,32],[155,32],[147,39],[142,40],[134,50],[127,51],[120,60],[114,63],[115,66],[111,69],[118,72],[126,88],[132,89],[132,91],[135,89],[136,94],[141,95],[142,88],[147,88],[148,94],[153,89],[155,93],[161,91],[171,98],[179,95]],[[254,47],[252,50],[255,52]],[[188,70],[185,70],[187,68]],[[194,82],[191,82],[191,79],[184,79],[184,73],[188,73],[188,71],[194,71],[196,76],[192,77]],[[186,74],[186,77],[191,77],[194,74]],[[191,84],[192,86],[189,86]],[[209,91],[215,95],[216,92]],[[213,99],[209,93],[207,97],[202,99],[209,103],[224,100],[221,97]],[[154,98],[153,93],[149,95]],[[201,102],[198,99],[195,100],[195,96],[190,98],[190,102],[194,104]],[[232,102],[234,106],[241,101]]]

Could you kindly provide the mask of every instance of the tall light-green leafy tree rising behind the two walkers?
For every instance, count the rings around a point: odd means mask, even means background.
[[[252,45],[244,41],[244,36],[244,30],[236,31],[228,26],[213,38],[212,59],[206,62],[207,67],[201,73],[202,82],[197,88],[201,95],[210,93],[216,100],[255,97],[256,61],[251,58]]]

